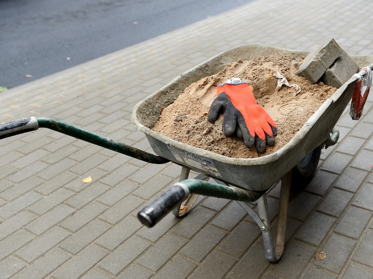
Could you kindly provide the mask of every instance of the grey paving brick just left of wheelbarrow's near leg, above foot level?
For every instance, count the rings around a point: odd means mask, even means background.
[[[253,245],[254,240],[260,233],[261,230],[258,226],[242,222],[220,244],[219,250],[235,259],[239,259],[249,246]]]

